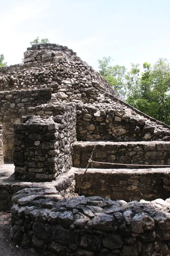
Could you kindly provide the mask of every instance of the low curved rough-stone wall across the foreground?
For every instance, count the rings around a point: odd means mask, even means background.
[[[57,201],[42,190],[13,197],[10,236],[42,255],[170,255],[170,200],[126,203],[84,196]]]

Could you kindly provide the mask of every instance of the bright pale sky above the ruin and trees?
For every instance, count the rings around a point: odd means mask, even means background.
[[[66,45],[96,70],[112,64],[170,61],[170,0],[0,0],[0,54],[21,63],[37,36]]]

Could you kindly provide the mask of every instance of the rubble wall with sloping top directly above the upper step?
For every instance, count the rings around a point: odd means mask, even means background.
[[[170,140],[170,129],[107,98],[101,103],[77,104],[78,140]]]

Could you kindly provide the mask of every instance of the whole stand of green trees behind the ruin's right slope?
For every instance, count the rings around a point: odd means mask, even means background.
[[[109,66],[111,58],[99,61],[99,72],[119,91],[125,101],[153,118],[170,125],[170,63],[167,59],[151,65],[131,64],[130,71],[124,66]],[[118,67],[119,72],[116,73]]]

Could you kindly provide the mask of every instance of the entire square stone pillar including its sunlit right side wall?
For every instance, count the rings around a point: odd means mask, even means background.
[[[39,113],[45,111],[39,109]],[[14,125],[16,177],[54,180],[72,167],[72,144],[76,140],[75,106],[56,106],[56,113],[54,117],[26,116],[23,124]]]

